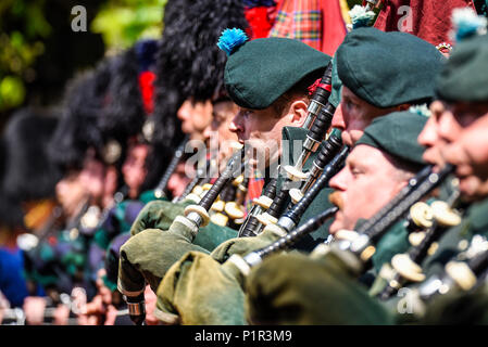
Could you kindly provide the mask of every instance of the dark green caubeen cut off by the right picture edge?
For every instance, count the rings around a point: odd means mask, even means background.
[[[438,99],[488,102],[488,35],[463,40],[454,47],[436,80]]]

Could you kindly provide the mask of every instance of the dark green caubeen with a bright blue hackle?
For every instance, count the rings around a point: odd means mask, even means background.
[[[287,38],[248,41],[240,29],[223,31],[217,46],[226,52],[226,90],[241,107],[263,110],[300,80],[322,73],[330,61],[305,43]]]

